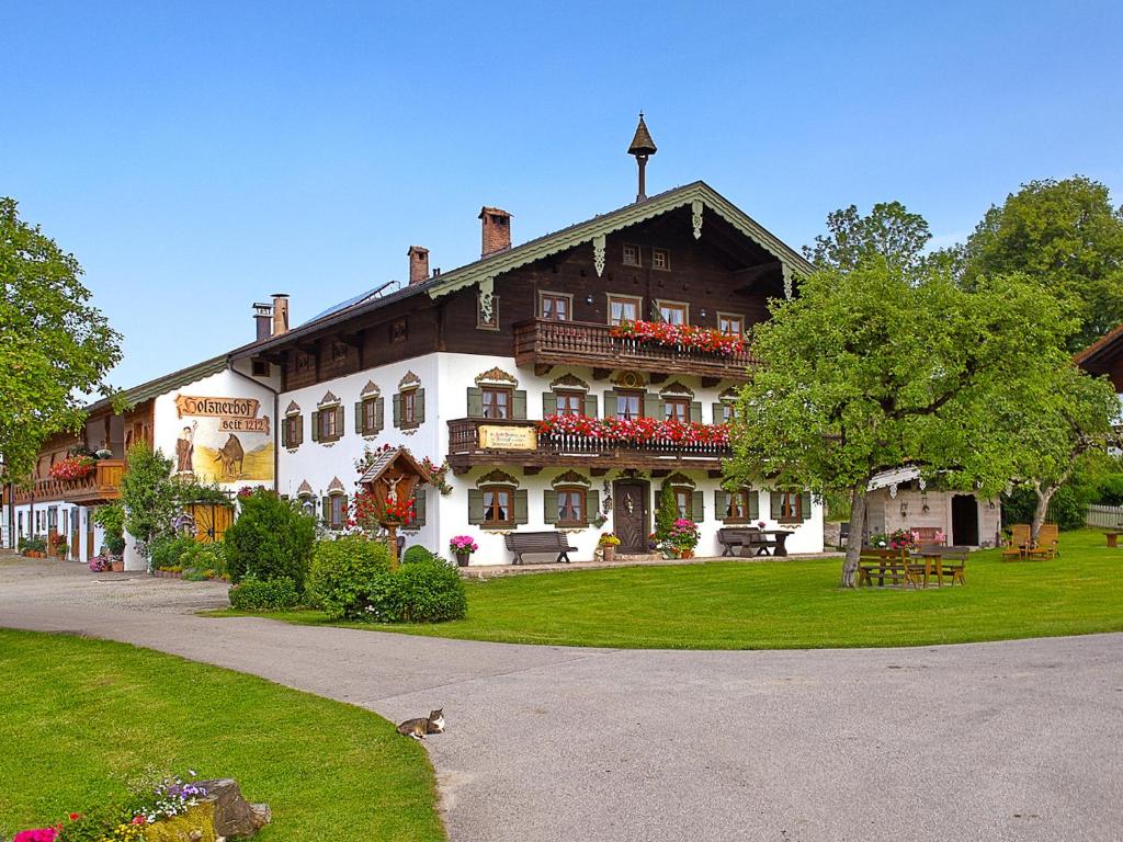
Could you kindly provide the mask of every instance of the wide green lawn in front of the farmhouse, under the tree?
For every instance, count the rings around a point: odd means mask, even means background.
[[[509,643],[667,649],[928,646],[1123,630],[1123,549],[1106,549],[1094,530],[1065,533],[1054,561],[973,553],[965,587],[843,591],[840,570],[840,560],[825,559],[509,576],[469,582],[465,620],[349,625]],[[314,611],[271,616],[331,624]]]

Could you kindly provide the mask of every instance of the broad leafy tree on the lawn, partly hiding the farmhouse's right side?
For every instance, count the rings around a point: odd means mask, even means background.
[[[993,395],[1061,365],[1063,329],[1056,301],[1017,276],[967,291],[946,269],[880,255],[818,272],[756,328],[761,367],[741,395],[728,473],[846,494],[855,536],[869,481],[887,468],[997,494],[1024,445],[995,428]],[[847,550],[846,586],[860,544]]]

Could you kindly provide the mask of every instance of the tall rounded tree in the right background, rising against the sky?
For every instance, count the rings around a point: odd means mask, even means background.
[[[992,207],[965,248],[964,282],[1021,272],[1075,317],[1079,350],[1123,321],[1123,208],[1081,176],[1033,181]]]

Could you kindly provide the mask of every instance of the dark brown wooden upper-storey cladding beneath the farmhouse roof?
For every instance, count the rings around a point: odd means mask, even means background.
[[[639,265],[626,260],[638,250]],[[667,267],[654,265],[664,253]],[[399,293],[366,312],[344,320],[325,320],[261,354],[280,366],[281,388],[291,391],[331,381],[378,365],[437,351],[518,357],[519,365],[692,373],[714,379],[745,379],[752,364],[746,353],[686,354],[665,348],[638,349],[630,357],[609,358],[603,339],[610,321],[609,296],[641,301],[640,318],[651,319],[657,302],[684,304],[688,323],[718,328],[723,314],[743,318],[747,330],[768,318],[768,299],[784,294],[780,262],[715,214],[706,218],[701,238],[693,236],[691,208],[679,207],[604,238],[604,267],[597,274],[593,247],[582,242],[494,278],[496,323],[481,327],[475,285],[431,298],[423,291]],[[583,350],[550,348],[535,322],[542,315],[544,294],[569,302],[569,328],[587,326]],[[576,342],[577,346],[581,342]],[[570,344],[573,347],[574,344]],[[600,348],[600,350],[599,350]]]

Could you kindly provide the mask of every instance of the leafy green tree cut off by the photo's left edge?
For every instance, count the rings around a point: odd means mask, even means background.
[[[30,474],[39,446],[85,420],[83,394],[109,394],[120,336],[90,304],[73,255],[0,198],[0,456]]]

